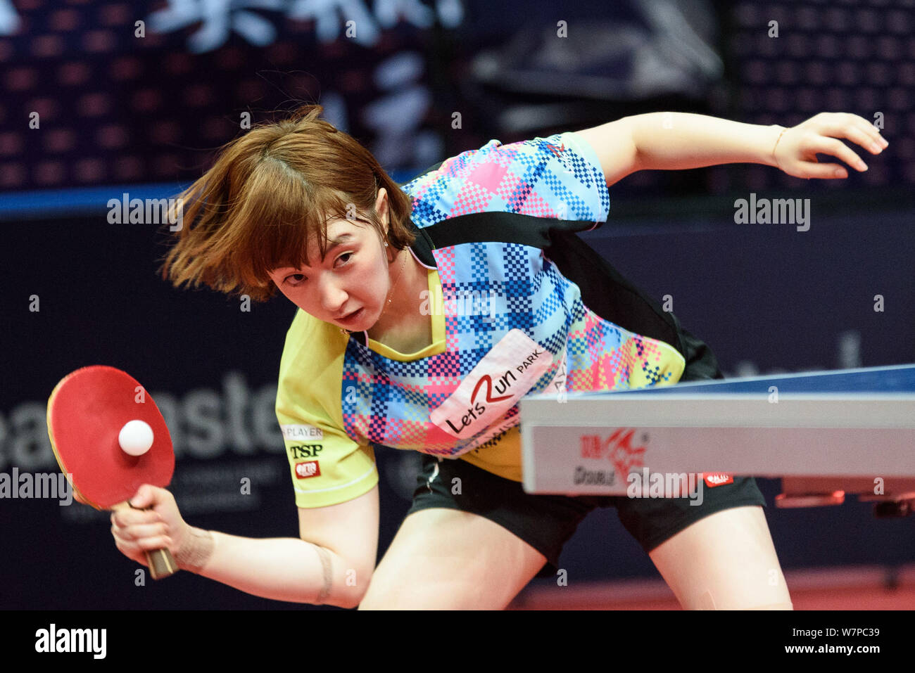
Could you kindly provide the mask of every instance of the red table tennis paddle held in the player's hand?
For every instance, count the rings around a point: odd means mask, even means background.
[[[131,429],[139,430],[122,434],[130,421],[146,425],[133,423]],[[141,485],[168,486],[175,471],[171,436],[156,402],[113,367],[84,367],[60,380],[48,399],[48,436],[60,470],[96,509],[130,507],[127,500]],[[147,551],[146,561],[156,580],[178,571],[167,549]]]

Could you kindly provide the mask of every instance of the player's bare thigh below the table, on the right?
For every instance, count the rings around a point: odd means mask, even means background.
[[[649,555],[686,609],[791,609],[762,507],[700,518]]]

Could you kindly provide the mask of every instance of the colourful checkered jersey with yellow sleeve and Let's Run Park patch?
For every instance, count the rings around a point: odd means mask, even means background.
[[[597,155],[576,134],[491,140],[402,188],[433,343],[399,353],[298,311],[276,398],[298,507],[368,492],[375,449],[521,481],[523,396],[683,377],[699,342],[576,236],[609,208]]]

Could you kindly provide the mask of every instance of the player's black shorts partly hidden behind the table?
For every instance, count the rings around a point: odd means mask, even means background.
[[[460,481],[452,481],[455,477]],[[458,490],[453,488],[455,484],[460,485],[458,495],[452,493]],[[704,485],[702,495],[698,506],[691,505],[689,497],[533,496],[525,493],[519,482],[467,461],[439,461],[436,456],[424,455],[413,506],[407,514],[447,507],[488,518],[546,557],[546,565],[537,575],[546,577],[555,575],[565,542],[595,507],[616,507],[623,526],[647,553],[700,518],[730,507],[766,505],[752,477],[736,476],[733,484]]]

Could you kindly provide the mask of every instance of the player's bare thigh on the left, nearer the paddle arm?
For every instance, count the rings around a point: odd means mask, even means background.
[[[404,518],[360,609],[502,609],[545,562],[488,518],[421,509]]]

